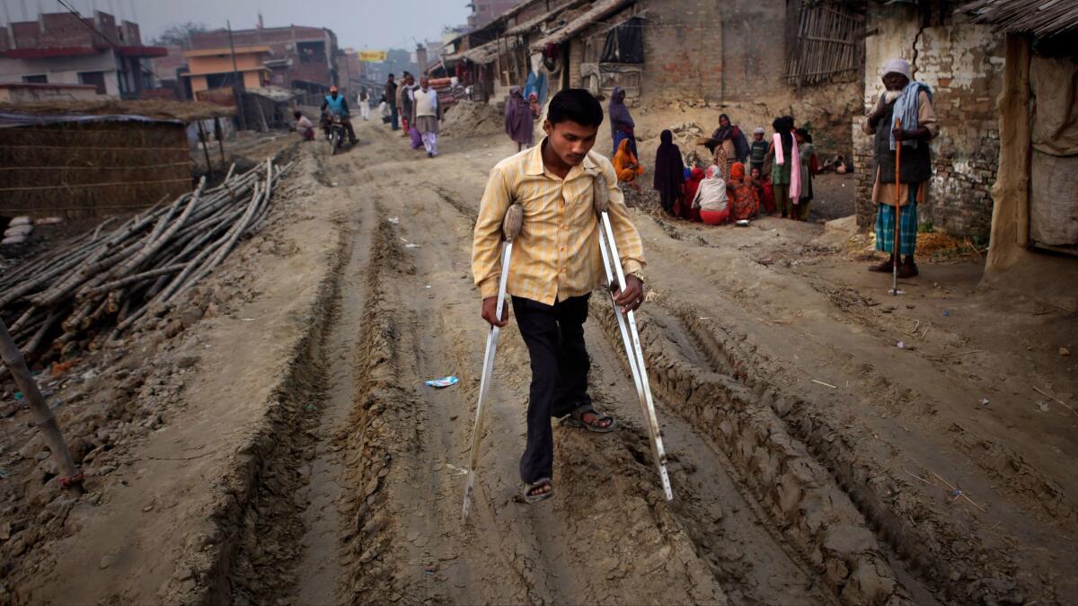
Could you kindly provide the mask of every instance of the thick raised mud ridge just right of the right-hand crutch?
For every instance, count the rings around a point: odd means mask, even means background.
[[[608,341],[620,343],[609,316],[599,321]],[[649,312],[640,332],[652,388],[679,417],[710,430],[745,492],[829,591],[846,604],[909,602],[861,514],[771,408],[732,376],[702,368],[704,352],[672,339],[680,331],[661,309]]]

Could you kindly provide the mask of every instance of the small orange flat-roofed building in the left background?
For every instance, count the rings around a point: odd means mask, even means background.
[[[270,46],[237,46],[235,64],[232,49],[204,49],[186,51],[189,72],[183,74],[191,82],[195,99],[205,100],[205,93],[215,88],[232,89],[235,73],[240,77],[240,89],[259,88],[270,81],[266,60],[272,56]]]

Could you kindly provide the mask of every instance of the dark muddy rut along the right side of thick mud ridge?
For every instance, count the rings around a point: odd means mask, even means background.
[[[730,330],[701,318],[697,311],[675,301],[665,301],[655,316],[664,325],[662,330],[649,327],[651,342],[659,343],[659,360],[666,360],[671,334],[678,341],[678,348],[688,346],[696,360],[692,367],[715,372],[721,381],[710,384],[707,390],[727,400],[741,400],[742,405],[764,409],[780,421],[784,440],[789,440],[811,455],[829,474],[829,483],[838,486],[884,546],[892,568],[902,584],[917,602],[943,600],[979,602],[982,600],[1013,598],[1017,565],[985,548],[968,529],[955,526],[951,520],[934,508],[934,504],[916,498],[893,472],[872,465],[857,456],[854,436],[848,428],[814,411],[808,402],[784,392],[766,378],[768,368],[773,368],[751,345]],[[659,333],[662,333],[661,336]],[[647,339],[647,338],[646,338]],[[665,345],[662,343],[665,341]],[[664,349],[664,347],[666,349]],[[706,363],[701,364],[703,359]],[[678,364],[672,367],[677,369]],[[673,389],[685,378],[675,370]],[[669,388],[669,384],[668,384]],[[696,395],[681,397],[691,401]],[[701,403],[689,407],[703,413]],[[723,415],[724,416],[724,415]],[[723,423],[723,425],[725,425]],[[720,428],[722,425],[720,425]],[[735,427],[731,424],[730,427]],[[717,440],[718,441],[718,440]],[[778,486],[780,488],[780,486]],[[953,537],[951,539],[944,537]],[[962,552],[955,543],[964,546]],[[1006,555],[1006,554],[1003,554]],[[985,580],[987,579],[987,580]],[[1011,579],[994,581],[992,579]],[[1051,589],[1047,589],[1051,594]],[[1036,591],[1045,595],[1045,588]]]

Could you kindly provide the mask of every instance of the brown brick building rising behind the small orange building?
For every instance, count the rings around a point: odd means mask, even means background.
[[[272,56],[265,61],[270,70],[270,84],[285,88],[300,88],[323,93],[330,86],[342,84],[337,58],[336,35],[329,29],[290,25],[237,29],[232,32],[235,46],[265,46]],[[229,47],[229,31],[218,29],[191,36],[192,51]]]

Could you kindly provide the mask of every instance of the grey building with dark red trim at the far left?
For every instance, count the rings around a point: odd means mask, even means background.
[[[0,82],[80,84],[100,95],[138,98],[155,85],[149,59],[166,54],[142,44],[137,24],[118,24],[108,13],[44,13],[0,29]]]

